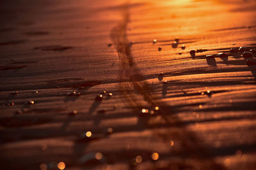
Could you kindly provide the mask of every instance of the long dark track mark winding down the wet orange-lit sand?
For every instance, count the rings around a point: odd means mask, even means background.
[[[225,167],[214,162],[214,157],[211,156],[203,144],[200,144],[202,140],[197,138],[194,132],[188,131],[188,129],[182,125],[183,123],[179,118],[172,115],[170,107],[164,104],[164,102],[158,102],[160,99],[157,99],[157,97],[152,94],[153,91],[150,90],[147,81],[143,81],[143,76],[140,74],[140,70],[132,59],[131,45],[127,39],[126,29],[129,22],[129,6],[122,6],[122,11],[124,18],[120,24],[112,29],[110,36],[120,60],[120,90],[125,99],[132,108],[135,108],[134,111],[138,111],[136,108],[145,108],[145,106],[152,108],[159,106],[158,114],[164,120],[165,124],[170,125],[170,131],[173,131],[175,125],[179,125],[179,127],[175,127],[178,130],[172,133],[165,132],[165,134],[159,134],[159,132],[157,132],[158,136],[163,136],[163,139],[170,141],[170,137],[168,136],[173,134],[186,151],[186,157],[199,160],[199,162],[201,162],[200,164],[202,164],[200,166],[207,169],[225,169]],[[161,125],[158,126],[161,128]],[[193,163],[191,164],[191,166],[195,167]]]

